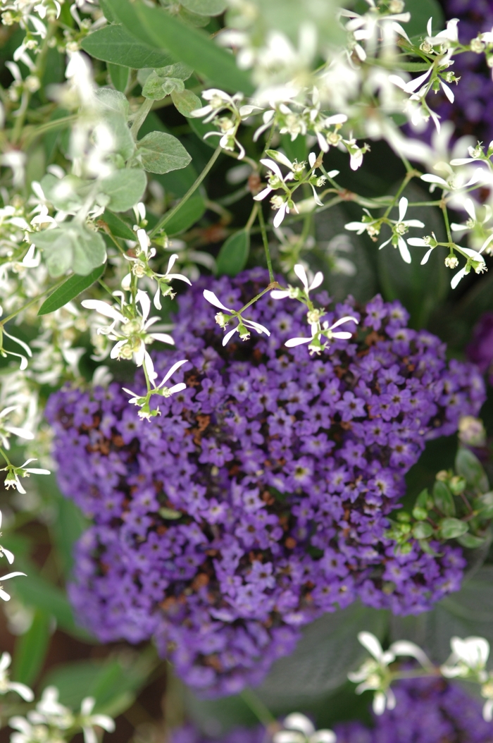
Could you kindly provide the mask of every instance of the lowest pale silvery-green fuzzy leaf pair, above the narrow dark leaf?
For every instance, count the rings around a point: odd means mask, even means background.
[[[33,233],[31,239],[45,251],[50,276],[62,276],[69,269],[79,276],[88,276],[106,260],[102,236],[75,221],[62,222],[55,230]]]

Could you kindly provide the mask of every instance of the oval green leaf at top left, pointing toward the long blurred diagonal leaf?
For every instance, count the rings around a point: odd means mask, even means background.
[[[107,1],[105,6],[112,12],[111,2]],[[114,16],[117,14],[114,13]],[[170,63],[170,56],[166,51],[157,51],[155,45],[138,42],[132,33],[120,25],[99,28],[82,39],[80,45],[96,59],[134,70],[143,67],[164,67]]]

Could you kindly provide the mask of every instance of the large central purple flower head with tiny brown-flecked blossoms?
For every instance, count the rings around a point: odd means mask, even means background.
[[[62,492],[95,522],[76,548],[77,616],[105,642],[153,636],[209,695],[258,684],[301,626],[357,597],[430,609],[465,565],[449,545],[396,554],[386,517],[425,441],[479,412],[477,369],[447,364],[443,343],[380,296],[327,312],[360,322],[316,358],[284,347],[307,334],[306,308],[268,294],[247,317],[270,337],[223,348],[203,288],[240,308],[268,281],[261,269],[200,279],[178,299],[180,351],[154,361],[189,359],[173,379],[186,389],[151,421],[114,383],[64,388],[47,409]]]

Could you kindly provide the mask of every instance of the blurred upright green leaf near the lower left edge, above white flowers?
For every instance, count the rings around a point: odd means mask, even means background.
[[[16,640],[12,671],[15,681],[31,686],[38,678],[50,644],[50,620],[50,614],[37,609],[30,628]]]

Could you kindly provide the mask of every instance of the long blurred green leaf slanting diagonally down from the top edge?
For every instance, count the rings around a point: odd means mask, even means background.
[[[241,91],[247,95],[254,92],[249,74],[237,67],[234,56],[209,39],[203,31],[186,25],[159,7],[148,7],[142,2],[131,3],[129,0],[107,2],[120,22],[141,42],[166,49],[177,60],[190,65],[223,90]],[[165,65],[140,66],[155,68]]]

